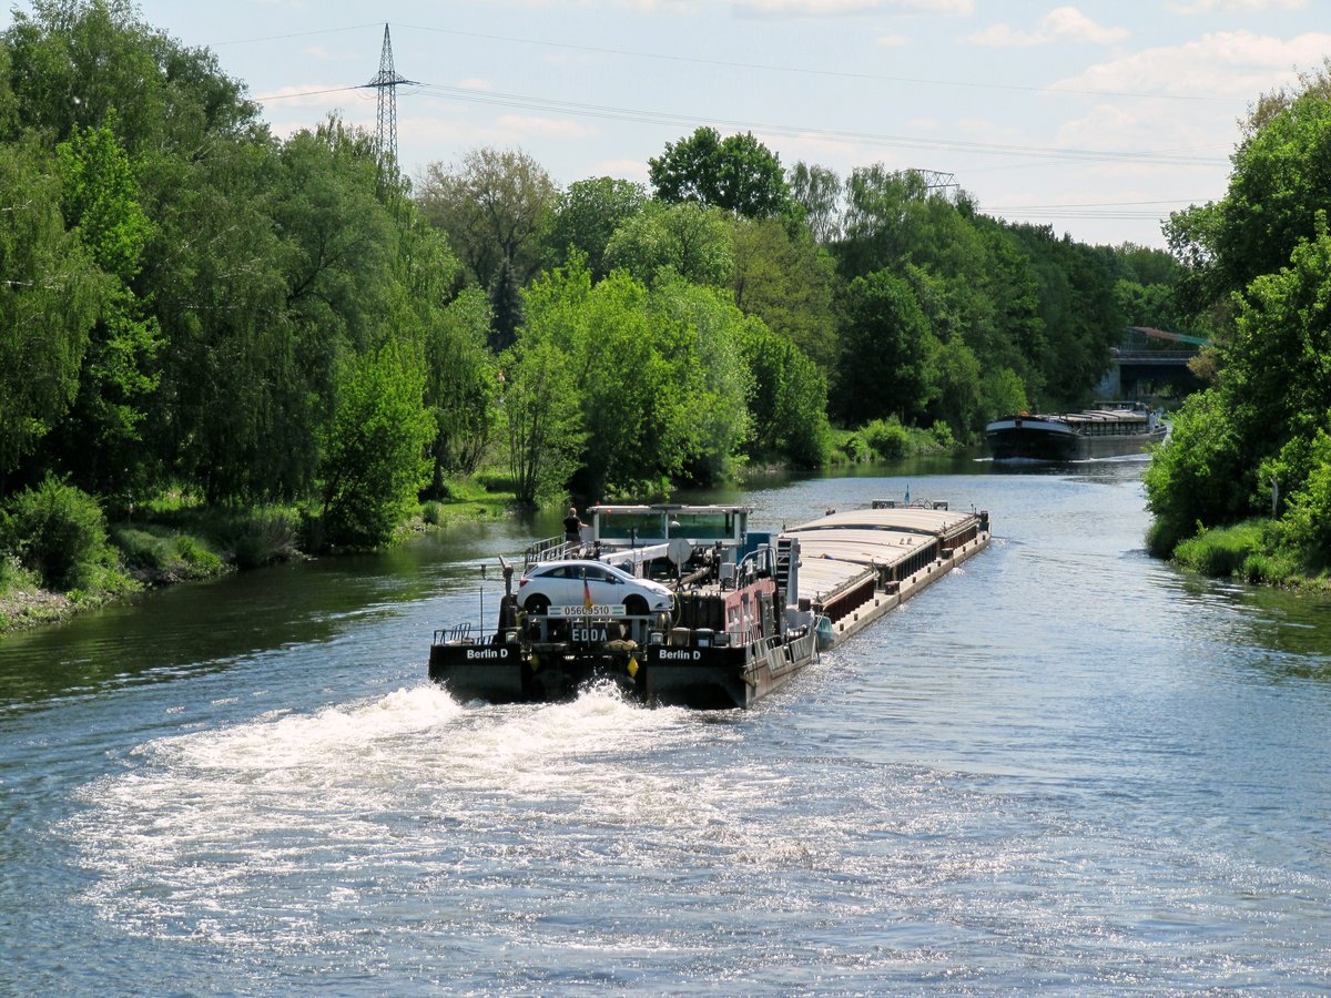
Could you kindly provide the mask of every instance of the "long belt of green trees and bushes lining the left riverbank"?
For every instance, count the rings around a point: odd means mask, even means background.
[[[560,186],[482,146],[411,181],[335,116],[273,136],[128,0],[35,0],[0,36],[0,585],[966,446],[1085,402],[1125,325],[1178,327],[1169,254],[920,172],[709,128],[647,168]]]

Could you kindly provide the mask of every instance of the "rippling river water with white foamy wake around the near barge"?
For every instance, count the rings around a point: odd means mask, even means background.
[[[555,519],[5,639],[0,991],[1331,991],[1331,607],[1149,559],[1141,471],[747,492],[996,534],[749,712],[431,687]]]

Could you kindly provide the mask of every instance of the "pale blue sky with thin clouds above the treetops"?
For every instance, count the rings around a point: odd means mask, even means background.
[[[29,9],[16,4],[17,9]],[[208,47],[278,136],[377,124],[385,24],[398,160],[419,180],[479,146],[560,186],[647,184],[700,125],[783,165],[876,162],[992,216],[1093,244],[1166,245],[1222,197],[1239,122],[1331,56],[1326,0],[141,0]],[[8,17],[7,17],[8,20]]]

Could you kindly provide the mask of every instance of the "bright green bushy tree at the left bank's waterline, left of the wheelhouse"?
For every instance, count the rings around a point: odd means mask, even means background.
[[[334,544],[378,547],[393,540],[430,475],[425,447],[425,363],[387,343],[342,369],[337,409],[325,434],[323,530]]]

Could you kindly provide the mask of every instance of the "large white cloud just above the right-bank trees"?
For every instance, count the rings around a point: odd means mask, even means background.
[[[1143,49],[1093,65],[1054,86],[1250,101],[1294,83],[1298,68],[1320,65],[1328,51],[1331,35],[1320,32],[1288,41],[1248,31],[1214,32],[1183,45]]]

